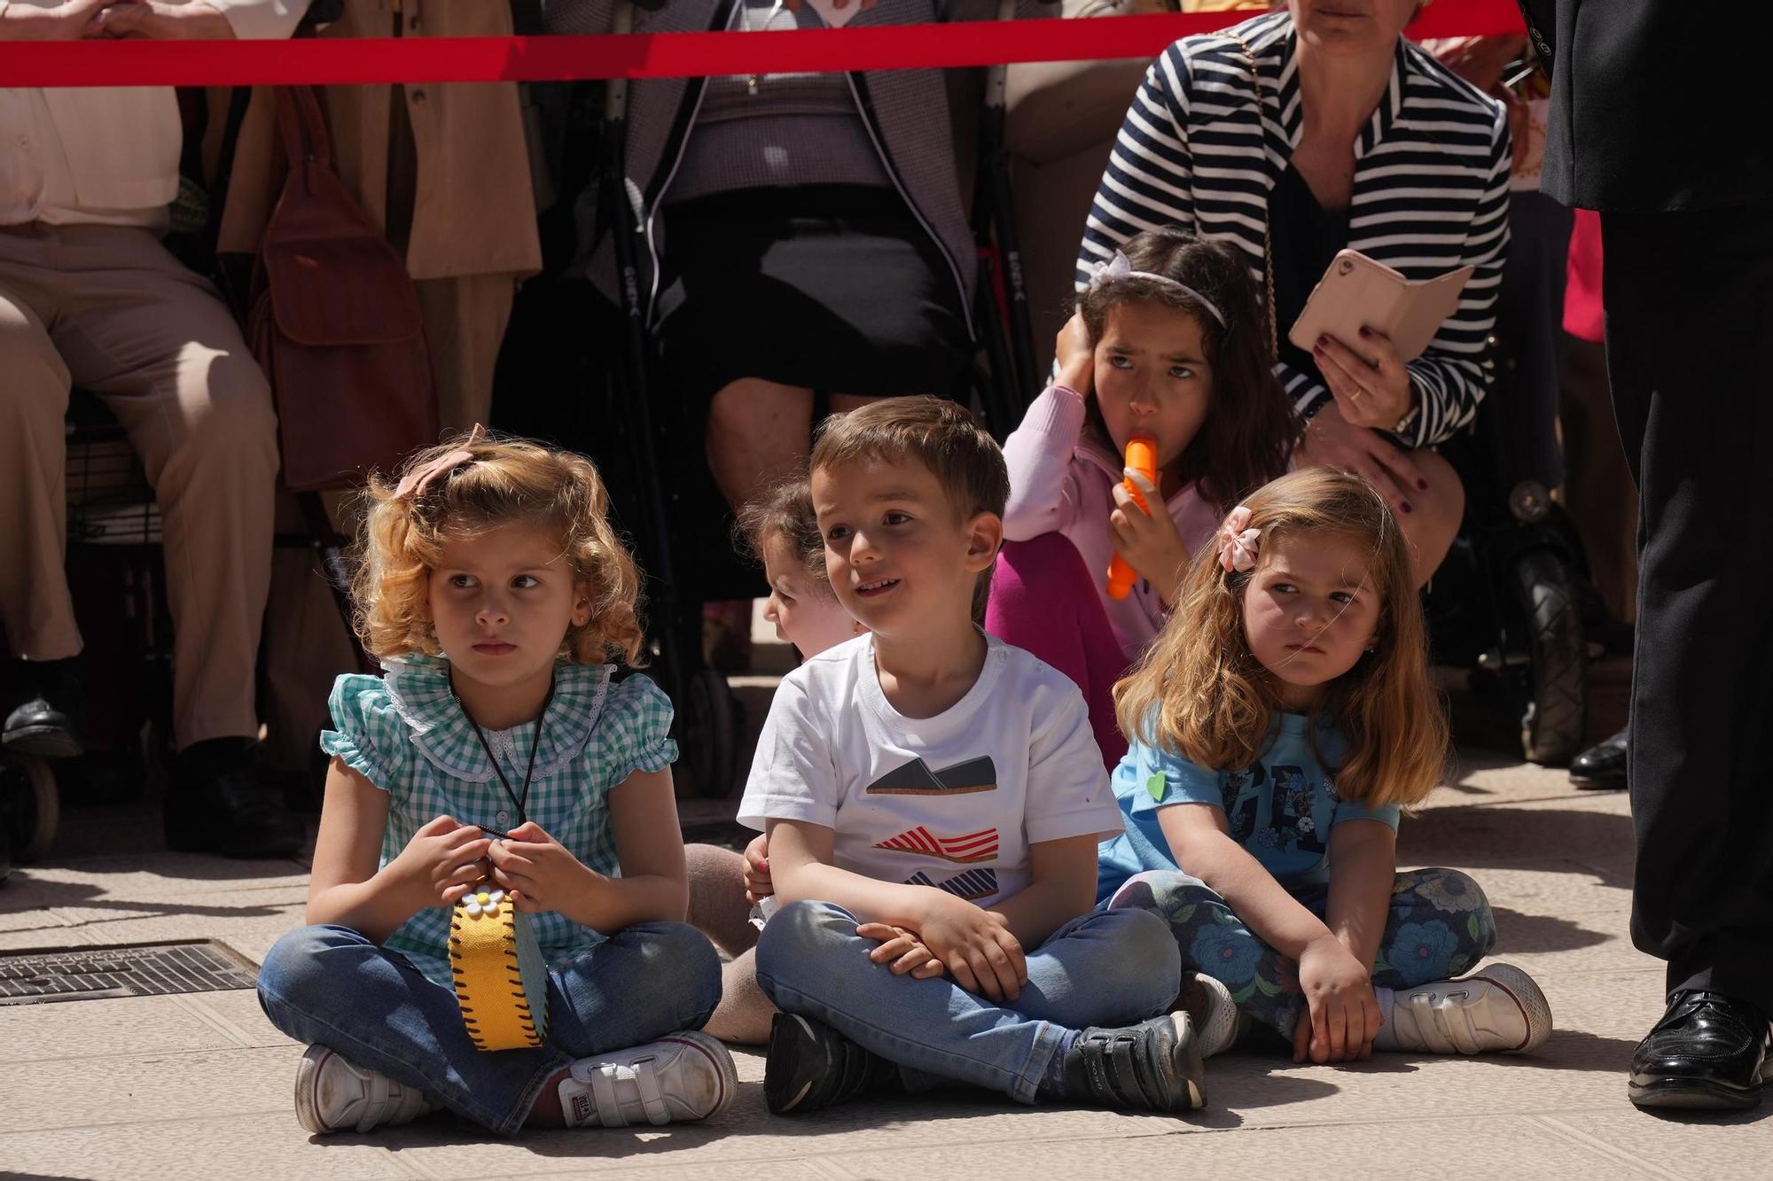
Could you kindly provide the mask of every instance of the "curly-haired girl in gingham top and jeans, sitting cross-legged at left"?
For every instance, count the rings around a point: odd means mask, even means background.
[[[333,688],[310,926],[259,972],[271,1023],[309,1044],[310,1133],[440,1107],[500,1133],[663,1124],[734,1096],[730,1055],[693,1032],[720,963],[683,922],[670,702],[605,663],[642,644],[606,512],[587,459],[479,427],[369,484],[353,598],[383,676]],[[539,1044],[477,1048],[514,1009],[457,997],[457,903],[463,924],[521,911],[511,989]]]

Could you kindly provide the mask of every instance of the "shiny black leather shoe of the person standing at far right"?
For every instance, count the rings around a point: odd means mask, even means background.
[[[1761,1101],[1773,1041],[1764,1013],[1707,991],[1681,991],[1631,1055],[1638,1107],[1743,1108]]]

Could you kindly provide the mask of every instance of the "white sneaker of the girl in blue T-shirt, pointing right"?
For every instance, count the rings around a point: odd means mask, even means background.
[[[1523,1053],[1551,1036],[1551,1005],[1534,977],[1493,963],[1463,981],[1395,989],[1390,1025],[1399,1050]]]

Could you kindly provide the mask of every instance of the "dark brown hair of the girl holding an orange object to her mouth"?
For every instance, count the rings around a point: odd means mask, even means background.
[[[1126,277],[1085,291],[1078,298],[1090,344],[1103,337],[1108,309],[1145,300],[1188,312],[1200,325],[1200,342],[1213,369],[1213,410],[1181,456],[1186,481],[1218,509],[1287,470],[1300,434],[1298,415],[1275,378],[1268,355],[1268,310],[1250,278],[1243,252],[1223,241],[1197,238],[1179,225],[1163,225],[1128,238],[1121,254],[1135,271],[1163,275],[1191,287],[1200,298],[1154,278]],[[1200,303],[1211,300],[1220,321]],[[1089,403],[1090,427],[1108,440],[1101,408]]]

